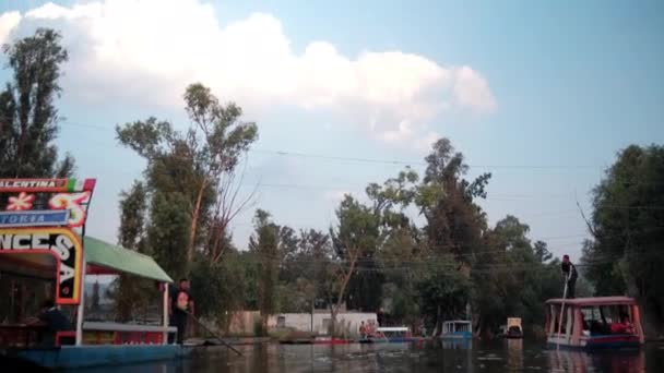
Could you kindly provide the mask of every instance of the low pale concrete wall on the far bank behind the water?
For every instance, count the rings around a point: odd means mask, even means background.
[[[330,313],[313,314],[313,330],[311,330],[310,313],[280,313],[270,316],[268,329],[294,328],[299,332],[312,332],[317,335],[327,335],[332,321]],[[347,336],[358,335],[359,324],[368,321],[378,323],[376,313],[343,312],[336,315],[336,330]]]

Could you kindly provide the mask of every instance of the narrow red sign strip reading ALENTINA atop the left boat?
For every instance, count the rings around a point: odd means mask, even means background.
[[[95,188],[95,179],[0,179],[0,192],[83,192]]]

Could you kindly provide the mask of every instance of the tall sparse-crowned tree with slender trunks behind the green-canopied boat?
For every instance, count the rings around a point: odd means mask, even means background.
[[[246,206],[246,203],[236,206],[237,193],[232,192],[229,182],[235,180],[241,156],[258,139],[258,128],[253,122],[240,120],[242,110],[238,106],[220,104],[210,88],[200,83],[187,87],[185,103],[192,122],[185,133],[155,118],[117,127],[116,131],[121,144],[147,160],[151,186],[182,196],[178,202],[188,213],[183,272],[189,273],[200,244],[201,228],[208,226],[208,221],[202,220],[211,206],[217,203],[214,227],[210,230],[214,239],[205,242],[214,262],[220,260],[220,242],[228,237],[228,222],[238,208]]]

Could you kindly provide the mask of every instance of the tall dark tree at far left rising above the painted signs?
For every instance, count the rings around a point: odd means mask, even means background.
[[[69,177],[73,158],[58,163],[52,144],[58,133],[55,99],[67,50],[60,34],[39,28],[29,37],[5,45],[12,81],[0,93],[0,178]]]

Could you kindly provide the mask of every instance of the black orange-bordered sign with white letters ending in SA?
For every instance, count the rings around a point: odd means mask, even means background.
[[[79,304],[83,249],[67,228],[0,229],[0,254],[50,254],[58,263],[56,303]]]

